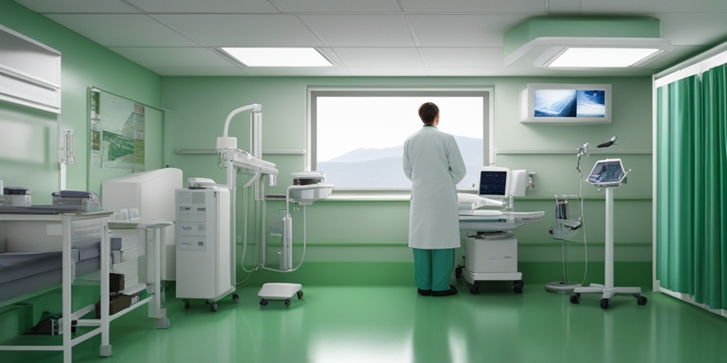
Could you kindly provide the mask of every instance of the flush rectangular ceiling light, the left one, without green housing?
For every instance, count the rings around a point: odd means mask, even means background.
[[[330,67],[333,65],[316,48],[222,47],[247,67]]]

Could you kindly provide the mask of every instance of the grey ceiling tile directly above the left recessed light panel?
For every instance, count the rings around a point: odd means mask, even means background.
[[[152,15],[206,46],[321,46],[295,15]]]

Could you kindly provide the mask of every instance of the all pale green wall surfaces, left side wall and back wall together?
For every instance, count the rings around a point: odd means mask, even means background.
[[[36,39],[63,54],[63,126],[75,129],[76,155],[79,162],[68,166],[69,189],[97,190],[87,185],[87,89],[96,86],[137,102],[168,110],[166,125],[154,126],[157,132],[148,145],[158,147],[158,166],[181,168],[184,176],[210,177],[225,181],[225,173],[217,166],[214,155],[188,155],[174,152],[177,148],[211,149],[221,136],[226,116],[242,105],[263,106],[264,149],[310,149],[305,131],[308,122],[308,93],[313,86],[370,87],[480,87],[494,89],[494,150],[497,165],[535,171],[536,187],[528,196],[516,200],[518,211],[546,211],[545,220],[516,232],[520,242],[519,261],[523,272],[537,274],[537,280],[557,280],[561,261],[560,242],[547,233],[553,223],[555,194],[577,194],[578,176],[574,169],[577,147],[590,142],[593,146],[611,136],[619,136],[613,152],[622,154],[591,155],[582,161],[582,170],[590,171],[596,160],[623,158],[632,168],[629,184],[614,193],[616,196],[616,261],[619,264],[651,263],[651,78],[523,78],[523,77],[161,77],[129,62],[87,38],[48,20],[9,0],[0,0],[0,24]],[[519,122],[520,94],[527,83],[609,83],[614,92],[613,123],[598,126],[545,126]],[[372,117],[377,112],[372,110]],[[246,148],[247,115],[236,116],[230,135],[238,136]],[[0,103],[0,127],[3,133],[17,125],[30,129],[32,139],[25,144],[41,150],[18,159],[7,148],[0,147],[0,176],[6,185],[27,185],[33,188],[33,203],[49,203],[50,192],[57,190],[57,165],[53,144],[55,116]],[[24,130],[25,131],[25,130]],[[155,131],[156,132],[156,131]],[[385,131],[382,131],[385,132]],[[166,138],[166,144],[164,139]],[[515,152],[513,152],[515,150]],[[539,150],[523,153],[523,150]],[[542,152],[543,150],[551,150]],[[568,150],[564,152],[563,150]],[[570,151],[572,150],[572,152]],[[619,151],[622,150],[622,151]],[[631,150],[631,151],[630,151]],[[637,152],[632,152],[637,150]],[[284,194],[290,183],[289,173],[302,171],[302,155],[264,155],[281,171],[278,186],[268,189],[270,195]],[[164,165],[161,165],[164,164]],[[589,261],[603,260],[603,192],[585,185]],[[265,225],[269,226],[280,200],[270,200]],[[571,206],[571,213],[573,213]],[[308,269],[316,263],[408,264],[411,251],[406,248],[409,203],[406,200],[361,201],[324,200],[307,208],[308,248],[305,255]],[[238,213],[240,216],[241,213]],[[302,252],[302,211],[293,214],[294,262]],[[241,222],[239,223],[241,224]],[[266,227],[267,229],[267,227]],[[242,229],[238,229],[238,232]],[[238,236],[241,239],[241,236]],[[247,261],[252,261],[256,241],[251,241]],[[277,248],[270,240],[273,256]],[[238,248],[238,253],[241,248]],[[580,264],[585,259],[582,245],[569,246],[569,260]],[[273,260],[274,261],[274,260]],[[304,265],[306,266],[306,265]],[[405,265],[406,266],[406,265]],[[542,269],[540,268],[542,266]],[[555,268],[553,268],[555,266]],[[598,265],[596,265],[598,266]],[[407,269],[406,267],[404,268]],[[637,268],[638,271],[648,269]],[[577,273],[577,270],[574,270]],[[242,274],[238,269],[239,274]],[[590,275],[591,276],[591,275]],[[597,279],[595,275],[593,279]],[[616,276],[619,272],[616,271]],[[527,279],[528,277],[526,277]],[[534,280],[535,276],[529,277]],[[650,276],[645,276],[650,279]],[[576,276],[573,280],[579,280]],[[596,280],[598,282],[598,280]],[[618,278],[616,279],[618,283]]]

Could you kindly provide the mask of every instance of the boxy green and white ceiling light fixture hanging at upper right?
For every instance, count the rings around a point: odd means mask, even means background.
[[[540,18],[505,33],[505,65],[639,67],[672,49],[653,18]]]

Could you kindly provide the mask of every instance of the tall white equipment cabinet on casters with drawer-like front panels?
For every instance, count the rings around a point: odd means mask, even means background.
[[[185,308],[201,298],[217,311],[217,301],[235,291],[231,249],[230,191],[177,189],[177,298]]]

